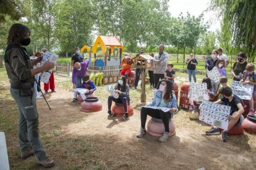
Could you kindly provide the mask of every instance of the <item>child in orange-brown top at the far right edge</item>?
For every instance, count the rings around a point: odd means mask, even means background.
[[[242,84],[254,84],[254,91],[252,92],[252,96],[254,96],[256,91],[256,72],[255,66],[253,63],[248,63],[245,67],[244,72],[242,73]],[[252,97],[249,101],[250,110],[248,116],[254,116],[254,98]]]

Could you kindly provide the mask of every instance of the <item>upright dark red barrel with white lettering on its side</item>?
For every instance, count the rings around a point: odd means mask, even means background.
[[[181,91],[179,93],[179,107],[181,108],[189,108],[189,98],[187,97],[187,94],[189,94],[189,83],[182,83],[181,84]]]

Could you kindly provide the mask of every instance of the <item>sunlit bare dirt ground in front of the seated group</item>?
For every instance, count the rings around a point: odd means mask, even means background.
[[[220,140],[220,136],[205,136],[204,129],[183,128],[179,125],[181,120],[177,118],[182,117],[179,115],[186,114],[185,111],[181,110],[174,116],[177,126],[176,135],[169,137],[168,142],[161,143],[158,138],[148,134],[141,139],[135,137],[140,128],[140,111],[134,110],[134,116],[125,122],[120,118],[109,118],[106,113],[106,99],[100,99],[103,103],[102,111],[84,113],[80,111],[79,103],[70,102],[71,92],[56,90],[57,93],[47,95],[52,111],[48,110],[42,99],[38,100],[40,129],[47,132],[53,129],[56,131],[56,127],[59,127],[59,135],[51,141],[71,138],[74,142],[66,144],[66,140],[63,140],[63,145],[51,144],[54,147],[50,144],[46,145],[48,154],[56,160],[56,166],[53,169],[66,169],[63,163],[67,158],[70,158],[70,165],[79,164],[79,161],[88,161],[86,159],[78,161],[74,156],[75,154],[86,155],[89,152],[97,156],[103,169],[198,169],[202,167],[205,169],[255,169],[256,167],[255,148],[247,144],[246,135],[241,139],[242,144],[224,143]],[[150,119],[149,116],[148,119]],[[58,134],[58,131],[56,133]],[[69,150],[80,147],[80,140],[85,144],[90,143],[95,150],[82,148],[77,150],[77,153],[72,152],[74,155],[70,155]],[[93,169],[93,165],[84,169]]]

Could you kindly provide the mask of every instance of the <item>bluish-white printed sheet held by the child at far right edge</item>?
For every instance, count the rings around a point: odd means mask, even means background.
[[[231,86],[233,94],[237,95],[240,99],[250,100],[252,98],[253,84],[242,84],[240,81],[233,81]]]

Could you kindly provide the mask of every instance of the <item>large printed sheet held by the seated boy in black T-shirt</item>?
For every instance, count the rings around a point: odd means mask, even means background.
[[[203,100],[200,108],[200,121],[204,121],[212,126],[220,127],[228,130],[228,116],[230,113],[230,106],[213,103]]]

